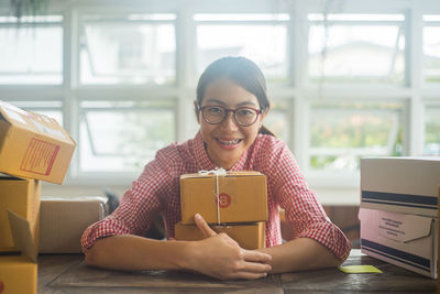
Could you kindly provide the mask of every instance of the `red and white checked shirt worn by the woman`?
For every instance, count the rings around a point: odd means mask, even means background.
[[[193,140],[160,150],[125,192],[118,209],[86,229],[81,238],[84,250],[102,237],[143,236],[157,214],[163,214],[167,237],[174,237],[174,225],[182,218],[180,175],[216,167],[205,151],[200,132]],[[296,238],[315,239],[341,260],[349,255],[349,240],[327,217],[284,142],[258,134],[230,171],[258,171],[267,177],[266,247],[282,243],[280,206],[286,220],[294,226]]]

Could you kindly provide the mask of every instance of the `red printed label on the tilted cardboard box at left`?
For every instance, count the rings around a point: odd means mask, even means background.
[[[41,175],[50,175],[58,151],[59,145],[32,139],[21,162],[20,170]]]

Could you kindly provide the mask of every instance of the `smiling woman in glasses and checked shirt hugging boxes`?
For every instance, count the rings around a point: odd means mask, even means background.
[[[224,57],[200,76],[195,101],[200,131],[160,150],[124,194],[120,207],[82,235],[86,262],[119,270],[187,269],[218,279],[258,279],[268,272],[336,266],[350,252],[328,219],[287,145],[263,127],[270,110],[263,73],[244,57]],[[179,177],[200,170],[258,171],[267,177],[266,248],[244,250],[217,235],[199,215],[206,239],[175,241],[180,220]],[[294,227],[282,243],[278,208]],[[143,238],[163,214],[169,241]]]

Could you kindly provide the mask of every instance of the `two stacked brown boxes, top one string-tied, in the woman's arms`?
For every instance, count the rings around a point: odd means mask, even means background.
[[[265,247],[267,186],[258,172],[204,173],[180,176],[182,221],[177,240],[200,240],[194,216],[200,214],[217,232],[226,232],[244,249]]]

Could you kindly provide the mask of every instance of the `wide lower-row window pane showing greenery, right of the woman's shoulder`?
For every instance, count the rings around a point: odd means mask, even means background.
[[[403,155],[398,104],[315,102],[310,112],[311,170],[353,172],[362,156]]]

